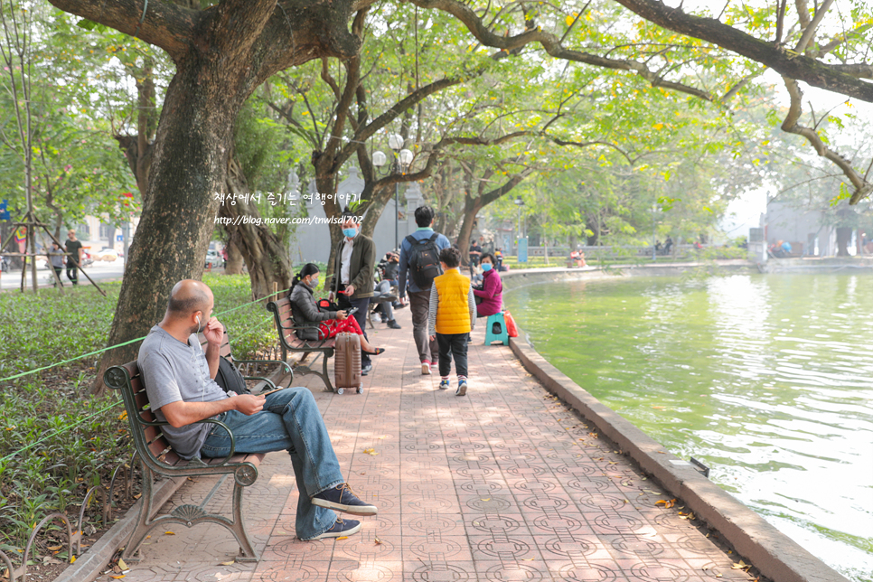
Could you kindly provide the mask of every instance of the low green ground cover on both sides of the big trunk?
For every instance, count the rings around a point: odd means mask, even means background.
[[[276,343],[272,314],[260,302],[243,305],[252,301],[248,276],[204,274],[203,281],[237,358]],[[0,549],[12,556],[21,556],[48,513],[78,516],[89,487],[108,486],[111,471],[133,452],[117,393],[85,394],[100,354],[77,359],[106,347],[121,284],[101,286],[107,297],[90,286],[68,287],[63,296],[51,289],[0,294],[0,378],[71,360],[0,384]]]

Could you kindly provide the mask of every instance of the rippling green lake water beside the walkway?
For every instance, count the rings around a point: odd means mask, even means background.
[[[634,277],[503,301],[560,371],[873,582],[873,276]]]

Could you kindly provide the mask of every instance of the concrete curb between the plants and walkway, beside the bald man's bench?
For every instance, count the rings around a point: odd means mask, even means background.
[[[187,479],[184,477],[176,477],[155,483],[155,507],[162,507],[186,481]],[[91,582],[99,577],[112,557],[115,556],[118,548],[121,548],[130,537],[142,504],[143,500],[140,498],[127,510],[127,514],[121,520],[100,536],[97,543],[82,554],[80,559],[64,569],[61,575],[54,579],[54,582]]]

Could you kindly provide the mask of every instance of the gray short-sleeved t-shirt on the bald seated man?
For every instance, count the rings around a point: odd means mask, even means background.
[[[197,341],[197,336],[182,343],[160,326],[155,325],[139,347],[139,371],[146,384],[148,401],[155,417],[165,422],[160,408],[164,404],[185,402],[212,402],[228,398],[221,386],[209,375],[209,362]],[[209,423],[191,424],[186,427],[161,427],[167,441],[176,453],[185,459],[197,456],[210,429]]]

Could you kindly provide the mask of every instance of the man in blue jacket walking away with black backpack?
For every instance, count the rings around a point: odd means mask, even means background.
[[[418,348],[421,373],[430,374],[430,367],[436,364],[439,350],[436,340],[427,335],[427,315],[430,310],[430,287],[434,278],[443,274],[439,265],[439,251],[452,246],[449,239],[434,232],[436,212],[430,206],[416,209],[418,230],[403,239],[400,245],[400,299],[409,292],[409,310],[412,312],[412,335]],[[411,279],[411,280],[410,280]]]

